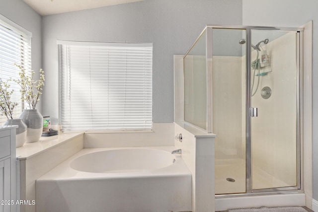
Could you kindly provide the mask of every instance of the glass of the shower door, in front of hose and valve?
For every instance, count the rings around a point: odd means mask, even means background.
[[[297,32],[251,30],[251,45],[261,42],[251,47],[252,190],[297,186],[296,41]]]

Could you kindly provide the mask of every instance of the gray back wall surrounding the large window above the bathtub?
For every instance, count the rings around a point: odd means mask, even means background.
[[[43,114],[58,118],[56,40],[152,42],[154,122],[173,122],[173,55],[184,54],[206,24],[242,24],[241,0],[146,0],[42,18]]]

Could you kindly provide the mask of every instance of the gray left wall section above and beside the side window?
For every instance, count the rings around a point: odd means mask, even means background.
[[[1,0],[0,14],[32,32],[32,70],[35,71],[34,78],[38,79],[38,71],[42,68],[41,15],[22,0]],[[41,99],[37,108],[41,111]]]

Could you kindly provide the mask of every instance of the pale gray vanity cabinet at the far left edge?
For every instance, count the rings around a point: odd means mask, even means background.
[[[0,127],[0,212],[15,212],[15,128]]]

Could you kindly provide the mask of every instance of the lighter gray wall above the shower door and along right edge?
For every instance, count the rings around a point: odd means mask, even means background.
[[[242,0],[243,25],[299,27],[313,20],[313,198],[318,200],[318,1]]]

